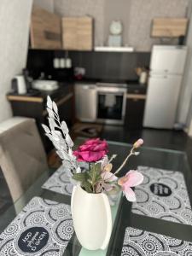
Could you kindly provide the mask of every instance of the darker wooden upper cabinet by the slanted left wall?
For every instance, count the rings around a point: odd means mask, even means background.
[[[61,49],[61,18],[33,6],[31,46],[32,49]]]

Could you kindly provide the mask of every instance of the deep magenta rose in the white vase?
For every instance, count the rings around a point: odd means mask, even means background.
[[[108,143],[100,138],[89,139],[75,151],[73,154],[78,161],[96,162],[101,160],[108,153]]]

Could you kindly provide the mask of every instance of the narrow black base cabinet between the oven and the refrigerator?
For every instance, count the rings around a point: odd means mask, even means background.
[[[132,85],[131,88],[128,87],[125,110],[125,127],[127,129],[141,129],[143,127],[145,100],[145,85]]]

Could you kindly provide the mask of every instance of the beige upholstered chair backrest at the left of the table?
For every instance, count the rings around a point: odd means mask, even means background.
[[[13,201],[48,169],[34,119],[14,117],[0,123],[0,166]]]

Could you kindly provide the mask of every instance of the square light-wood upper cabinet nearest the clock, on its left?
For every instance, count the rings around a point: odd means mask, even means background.
[[[62,18],[62,44],[68,50],[93,49],[93,19],[90,17]]]

